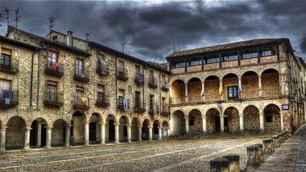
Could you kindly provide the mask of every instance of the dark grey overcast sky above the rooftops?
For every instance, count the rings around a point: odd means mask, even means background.
[[[306,60],[306,1],[3,1],[20,7],[18,28],[44,36],[46,19],[55,19],[54,30],[89,39],[132,56],[165,62],[178,50],[255,38],[288,37],[297,56]],[[10,20],[11,20],[10,19]],[[14,26],[12,21],[10,25]],[[6,33],[6,22],[0,23]]]

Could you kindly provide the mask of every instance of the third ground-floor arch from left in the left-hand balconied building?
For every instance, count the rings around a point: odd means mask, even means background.
[[[66,122],[58,119],[53,123],[51,132],[51,146],[64,146],[66,142]]]

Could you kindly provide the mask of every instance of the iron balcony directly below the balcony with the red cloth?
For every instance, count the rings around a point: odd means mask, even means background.
[[[61,107],[64,104],[64,95],[59,93],[45,92],[43,104],[48,107]]]

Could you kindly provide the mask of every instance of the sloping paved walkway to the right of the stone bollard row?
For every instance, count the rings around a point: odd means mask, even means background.
[[[306,124],[288,138],[256,172],[306,172]]]

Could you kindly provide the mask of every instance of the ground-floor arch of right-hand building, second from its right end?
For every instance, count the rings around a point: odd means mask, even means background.
[[[259,109],[255,105],[247,105],[243,108],[243,120],[245,133],[260,132]]]

